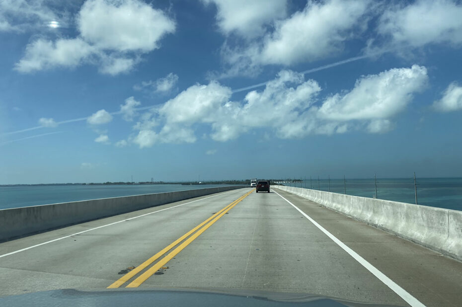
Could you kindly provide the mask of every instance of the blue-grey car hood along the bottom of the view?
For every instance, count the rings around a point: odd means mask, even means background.
[[[104,291],[81,291],[75,289],[51,290],[0,298],[1,306],[53,307],[53,306],[321,306],[321,307],[379,307],[328,298],[311,294],[288,294],[264,291],[230,291],[211,289],[114,289]],[[389,306],[389,305],[386,305]]]

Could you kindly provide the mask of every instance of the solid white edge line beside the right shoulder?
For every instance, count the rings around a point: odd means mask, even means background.
[[[340,246],[344,251],[346,251],[350,256],[352,256],[356,261],[358,261],[362,266],[364,266],[369,272],[374,274],[381,282],[383,282],[388,288],[390,288],[394,293],[396,293],[398,296],[400,296],[404,301],[407,302],[412,307],[425,307],[422,303],[420,303],[416,298],[414,298],[412,295],[410,295],[406,290],[398,286],[394,281],[389,279],[384,273],[379,271],[375,266],[370,264],[367,260],[365,260],[363,257],[361,257],[357,252],[355,252],[353,249],[345,245],[342,241],[337,239],[332,233],[327,231],[325,228],[323,228],[321,225],[319,225],[316,221],[311,219],[305,212],[300,210],[297,206],[295,206],[293,203],[282,197],[278,192],[273,190],[274,193],[278,194],[282,199],[284,199],[286,202],[292,205],[295,209],[297,209],[301,214],[303,214],[309,222],[313,223],[314,226],[316,226],[319,230],[324,232],[332,241],[334,241],[338,246]]]

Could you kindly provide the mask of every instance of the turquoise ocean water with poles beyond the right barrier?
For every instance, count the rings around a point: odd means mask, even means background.
[[[462,210],[462,178],[417,178],[417,203],[419,205]],[[317,190],[317,177],[297,183],[285,183]],[[374,178],[371,179],[330,179],[330,191],[335,193],[375,197]],[[319,190],[329,191],[329,181],[319,180]],[[380,179],[377,178],[377,198],[415,204],[414,178]]]

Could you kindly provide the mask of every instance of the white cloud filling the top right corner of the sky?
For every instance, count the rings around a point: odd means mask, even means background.
[[[380,17],[378,33],[394,47],[462,43],[462,5],[452,0],[417,0],[390,6]]]

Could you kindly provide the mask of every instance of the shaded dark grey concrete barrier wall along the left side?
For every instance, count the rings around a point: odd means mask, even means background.
[[[216,187],[2,209],[0,210],[0,241],[243,187],[247,186]]]

